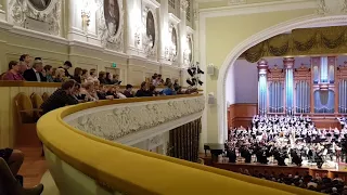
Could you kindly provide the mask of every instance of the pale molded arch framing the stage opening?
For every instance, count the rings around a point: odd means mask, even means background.
[[[235,63],[237,57],[247,49],[265,41],[279,34],[284,34],[295,28],[310,28],[317,26],[347,25],[347,15],[308,15],[290,20],[278,25],[271,26],[258,34],[250,36],[242,41],[228,54],[222,66],[220,67],[217,81],[217,103],[218,103],[218,141],[223,143],[228,138],[227,121],[227,101],[226,101],[226,81],[229,68]]]

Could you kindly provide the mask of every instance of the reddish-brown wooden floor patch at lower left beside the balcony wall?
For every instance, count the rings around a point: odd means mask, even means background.
[[[17,150],[22,151],[25,155],[18,173],[24,177],[24,187],[39,184],[43,173],[48,169],[44,157],[41,157],[41,148],[21,147]]]

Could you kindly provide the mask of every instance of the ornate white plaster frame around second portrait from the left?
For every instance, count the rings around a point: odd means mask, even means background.
[[[123,0],[116,0],[119,6],[119,27],[115,35],[112,35],[108,30],[105,14],[104,14],[104,0],[97,0],[97,21],[98,21],[98,34],[103,48],[114,50],[117,52],[124,52],[124,6]]]

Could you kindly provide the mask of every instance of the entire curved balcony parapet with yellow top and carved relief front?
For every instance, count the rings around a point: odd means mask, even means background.
[[[176,95],[92,102],[46,114],[38,134],[61,194],[317,194],[126,145],[200,118],[204,105],[201,94]]]

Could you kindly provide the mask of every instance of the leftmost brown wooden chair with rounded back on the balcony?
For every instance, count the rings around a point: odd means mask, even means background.
[[[41,146],[36,132],[36,121],[38,119],[36,113],[41,112],[41,109],[34,108],[30,99],[23,92],[14,98],[14,105],[17,116],[15,146]]]

